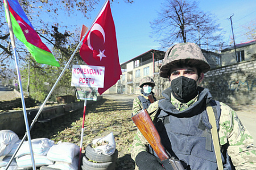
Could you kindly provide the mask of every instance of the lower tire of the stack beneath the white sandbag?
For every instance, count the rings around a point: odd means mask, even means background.
[[[114,170],[115,162],[93,163],[86,156],[82,157],[82,170]]]

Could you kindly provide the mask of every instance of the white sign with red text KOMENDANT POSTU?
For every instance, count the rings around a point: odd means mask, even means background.
[[[105,67],[73,65],[71,86],[104,88]]]

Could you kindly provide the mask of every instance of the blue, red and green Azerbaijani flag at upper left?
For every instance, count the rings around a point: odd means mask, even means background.
[[[7,2],[16,38],[26,45],[36,62],[60,67],[60,64],[55,60],[52,52],[49,51],[48,47],[42,42],[39,35],[34,30],[27,15],[19,5],[19,2],[17,0],[7,0]]]

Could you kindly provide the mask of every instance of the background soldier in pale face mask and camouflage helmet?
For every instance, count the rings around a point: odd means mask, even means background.
[[[148,106],[151,104],[150,100],[148,99],[148,95],[152,94],[154,101],[156,98],[154,97],[154,89],[155,82],[150,77],[143,77],[139,83],[139,87],[141,88],[141,94],[136,97],[133,101],[133,114],[138,113],[138,111],[142,109],[147,109]]]

